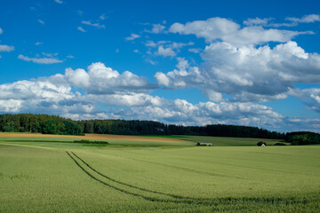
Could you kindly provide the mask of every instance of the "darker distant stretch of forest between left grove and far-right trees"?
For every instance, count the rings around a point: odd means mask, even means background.
[[[285,134],[257,127],[212,124],[205,126],[182,126],[153,121],[85,120],[77,122],[84,133],[116,135],[196,135],[235,138],[284,139]]]

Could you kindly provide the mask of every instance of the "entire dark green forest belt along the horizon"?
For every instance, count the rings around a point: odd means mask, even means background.
[[[196,135],[235,138],[284,139],[295,145],[320,144],[320,135],[314,132],[280,133],[250,126],[211,124],[182,126],[154,121],[84,120],[73,121],[48,114],[0,114],[0,131],[39,132],[57,135],[84,135],[84,133],[114,135]]]

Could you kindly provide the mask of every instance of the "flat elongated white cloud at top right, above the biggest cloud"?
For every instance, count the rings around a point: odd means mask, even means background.
[[[262,20],[247,20],[247,24],[263,22]],[[266,20],[264,20],[266,21]],[[211,18],[208,20],[195,20],[186,24],[174,23],[169,29],[172,33],[181,35],[195,35],[202,37],[207,43],[222,40],[234,44],[260,44],[268,42],[288,42],[294,36],[312,34],[313,32],[298,32],[281,29],[265,29],[261,26],[241,28],[232,20]]]

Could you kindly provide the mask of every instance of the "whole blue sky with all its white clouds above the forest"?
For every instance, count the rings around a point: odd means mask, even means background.
[[[319,8],[1,1],[0,113],[319,131]]]

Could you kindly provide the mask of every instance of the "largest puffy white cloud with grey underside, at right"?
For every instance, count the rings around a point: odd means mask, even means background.
[[[320,81],[320,55],[305,52],[295,42],[273,49],[211,43],[202,58],[201,67],[188,67],[188,61],[179,59],[178,69],[156,73],[157,83],[172,89],[196,87],[213,101],[221,101],[222,93],[238,101],[264,102],[285,99],[294,83]]]

